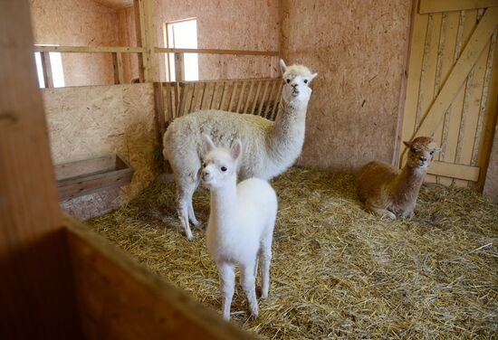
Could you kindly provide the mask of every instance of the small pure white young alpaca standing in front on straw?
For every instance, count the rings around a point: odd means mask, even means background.
[[[207,154],[201,172],[202,182],[211,191],[211,212],[206,231],[207,250],[218,267],[223,293],[223,316],[230,318],[235,289],[235,263],[240,266],[240,283],[251,313],[258,316],[255,276],[261,261],[262,297],[268,297],[273,227],[277,196],[270,184],[250,178],[237,184],[237,163],[242,146],[236,139],[232,149],[215,147],[204,135]]]

